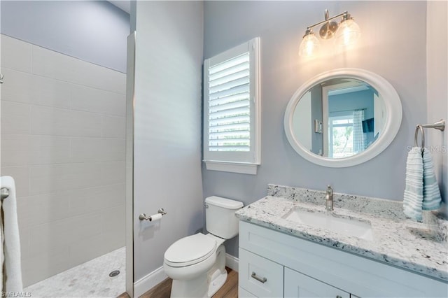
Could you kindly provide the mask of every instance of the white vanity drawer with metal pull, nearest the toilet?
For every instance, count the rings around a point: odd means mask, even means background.
[[[239,286],[255,297],[283,297],[283,266],[239,249]]]

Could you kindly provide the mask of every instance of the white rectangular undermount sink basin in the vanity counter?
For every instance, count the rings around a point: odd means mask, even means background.
[[[332,232],[346,234],[347,236],[355,236],[370,241],[373,240],[372,226],[368,221],[342,218],[337,217],[333,213],[323,213],[297,207],[292,208],[281,218],[311,227],[319,227]]]

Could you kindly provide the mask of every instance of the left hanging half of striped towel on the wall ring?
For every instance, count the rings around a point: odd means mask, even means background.
[[[421,148],[413,147],[407,155],[406,186],[403,198],[403,212],[413,220],[422,220],[423,204],[423,158]]]

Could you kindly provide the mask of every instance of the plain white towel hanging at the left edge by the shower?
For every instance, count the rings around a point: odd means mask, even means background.
[[[1,187],[8,187],[9,196],[1,202],[1,226],[3,247],[1,288],[3,292],[22,292],[22,269],[20,267],[20,236],[17,218],[17,203],[15,201],[15,183],[13,177],[2,176]]]

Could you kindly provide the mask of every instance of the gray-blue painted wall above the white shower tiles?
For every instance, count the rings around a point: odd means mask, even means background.
[[[108,1],[1,1],[1,33],[126,72],[130,15]]]

